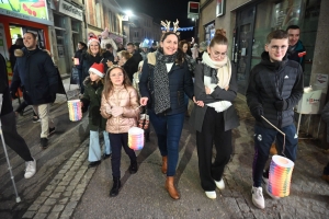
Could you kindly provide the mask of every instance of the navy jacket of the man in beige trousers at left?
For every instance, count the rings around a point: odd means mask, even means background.
[[[24,100],[29,105],[53,103],[58,89],[58,73],[52,57],[39,48],[22,48],[16,57],[11,92],[23,87]]]

